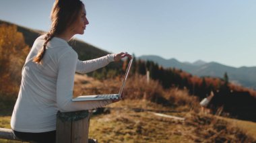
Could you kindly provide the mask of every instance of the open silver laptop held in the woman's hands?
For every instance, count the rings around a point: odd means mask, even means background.
[[[123,93],[123,89],[125,88],[125,82],[127,80],[127,77],[129,75],[129,71],[131,68],[131,64],[133,63],[133,58],[129,61],[129,64],[127,66],[125,77],[123,79],[123,84],[121,88],[119,89],[118,94],[107,94],[107,95],[82,95],[79,97],[75,97],[72,99],[72,101],[95,101],[95,100],[113,100],[113,99],[121,99],[121,95]]]

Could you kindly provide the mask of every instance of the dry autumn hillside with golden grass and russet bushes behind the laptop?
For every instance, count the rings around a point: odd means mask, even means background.
[[[145,77],[136,79],[129,79],[125,91],[130,94],[125,93],[125,100],[110,104],[102,113],[92,115],[90,138],[96,138],[98,142],[256,142],[256,138],[253,138],[256,136],[255,130],[247,130],[255,127],[255,123],[243,126],[245,124],[241,124],[243,121],[240,120],[233,124],[232,119],[204,115],[199,113],[197,99],[185,91],[164,91],[156,81],[146,85]],[[119,82],[118,78],[113,81],[97,81],[76,75],[75,94],[115,92],[119,89]],[[158,88],[147,92],[152,85]],[[167,102],[172,97],[172,102],[165,105],[156,103],[157,100],[151,97],[155,94],[164,97]],[[154,113],[184,117],[185,120]],[[0,117],[0,128],[9,128],[9,120],[9,116]]]

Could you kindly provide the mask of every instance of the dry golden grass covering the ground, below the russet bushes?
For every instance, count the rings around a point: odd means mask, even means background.
[[[110,113],[92,115],[90,120],[89,136],[98,142],[256,142],[251,138],[256,135],[253,122],[244,126],[241,120],[220,119],[139,99],[119,101],[107,109]],[[185,117],[185,121],[158,117],[151,111]],[[1,128],[10,128],[9,122],[10,116],[0,117]]]

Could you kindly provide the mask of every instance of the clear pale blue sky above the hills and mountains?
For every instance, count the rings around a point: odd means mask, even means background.
[[[75,38],[102,50],[256,66],[254,0],[82,1],[89,25]],[[46,32],[53,3],[1,0],[0,19]]]

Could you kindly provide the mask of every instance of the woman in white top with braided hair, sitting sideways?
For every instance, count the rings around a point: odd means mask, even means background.
[[[72,102],[75,72],[88,73],[109,62],[131,55],[108,54],[80,61],[67,44],[75,34],[84,34],[88,19],[79,0],[56,0],[51,11],[51,30],[38,37],[22,68],[22,83],[11,116],[15,136],[32,142],[55,142],[57,111],[79,111],[113,101]]]

